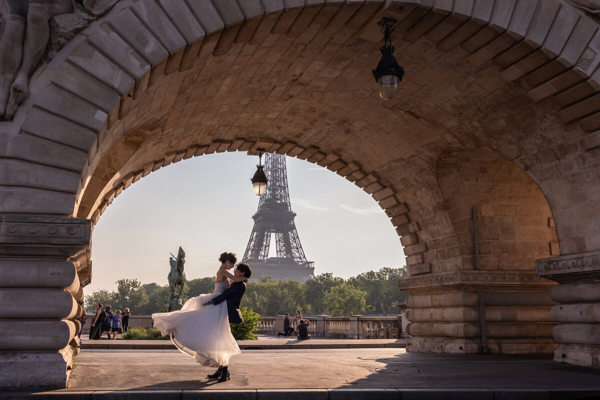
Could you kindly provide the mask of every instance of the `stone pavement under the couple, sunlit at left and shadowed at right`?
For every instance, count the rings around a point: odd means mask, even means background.
[[[290,339],[262,341],[273,346]],[[176,350],[83,348],[68,389],[5,390],[0,399],[600,398],[599,370],[558,365],[550,356],[420,354],[385,344],[336,348],[352,341],[320,341],[331,347],[242,350],[230,360],[232,377],[224,383],[206,378],[214,368]]]

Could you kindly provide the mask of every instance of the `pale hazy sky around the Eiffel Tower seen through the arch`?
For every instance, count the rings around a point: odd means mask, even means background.
[[[400,238],[371,196],[316,164],[286,161],[298,236],[316,275],[349,278],[404,265]],[[203,155],[161,168],[123,191],[92,233],[86,294],[115,290],[121,278],[166,285],[169,253],[177,254],[179,246],[188,279],[214,276],[223,251],[241,261],[259,203],[250,182],[256,164],[258,157],[242,152]]]

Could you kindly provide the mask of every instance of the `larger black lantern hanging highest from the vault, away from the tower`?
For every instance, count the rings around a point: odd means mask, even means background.
[[[377,68],[373,70],[373,76],[383,100],[392,100],[398,94],[398,83],[404,76],[404,68],[400,67],[394,58],[394,46],[389,38],[397,23],[397,20],[389,18],[382,18],[377,22],[383,34],[383,47],[380,49],[382,57]]]

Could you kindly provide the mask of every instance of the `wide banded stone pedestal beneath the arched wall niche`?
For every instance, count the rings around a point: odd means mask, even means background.
[[[548,295],[554,283],[522,270],[463,270],[400,278],[406,350],[421,353],[551,354]]]

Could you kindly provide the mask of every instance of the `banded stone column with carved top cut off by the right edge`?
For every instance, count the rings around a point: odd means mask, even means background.
[[[560,303],[552,308],[554,361],[600,368],[600,251],[542,258],[536,270],[559,282],[550,289]]]

